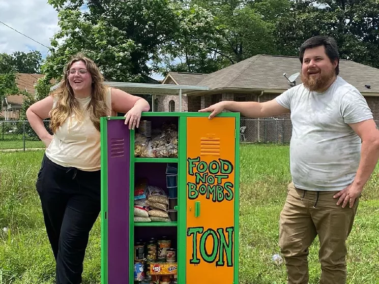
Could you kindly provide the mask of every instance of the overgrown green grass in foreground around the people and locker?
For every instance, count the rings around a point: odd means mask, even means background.
[[[290,181],[288,146],[241,147],[240,284],[285,284],[278,218]],[[0,284],[53,284],[54,259],[35,180],[43,151],[0,153]],[[366,185],[348,239],[347,283],[379,283],[379,170]],[[8,232],[2,229],[8,228]],[[319,280],[318,242],[309,257],[310,284]],[[91,232],[83,284],[100,283],[100,222]]]

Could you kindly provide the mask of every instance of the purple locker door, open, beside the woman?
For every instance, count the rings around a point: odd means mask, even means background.
[[[108,120],[108,284],[129,284],[130,131]]]

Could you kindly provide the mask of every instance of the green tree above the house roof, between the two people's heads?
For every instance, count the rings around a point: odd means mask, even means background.
[[[288,0],[275,1],[288,3]],[[255,2],[242,0],[192,0],[183,5],[205,9],[213,24],[208,25],[211,29],[198,34],[189,29],[178,44],[169,47],[166,54],[171,55],[168,56],[171,60],[165,61],[166,71],[211,73],[256,54],[278,54],[274,25],[259,13],[273,7],[258,7]],[[278,6],[276,11],[280,9]],[[200,36],[196,38],[197,35]]]

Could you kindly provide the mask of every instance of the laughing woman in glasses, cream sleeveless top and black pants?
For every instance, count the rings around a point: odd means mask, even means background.
[[[59,89],[26,111],[47,147],[36,187],[57,284],[81,283],[89,233],[100,212],[100,117],[126,113],[125,124],[134,129],[149,109],[142,98],[106,87],[95,63],[78,54]],[[53,136],[42,121],[47,117]]]

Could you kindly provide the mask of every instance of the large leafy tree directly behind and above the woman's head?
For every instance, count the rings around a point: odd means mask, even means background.
[[[178,3],[169,0],[50,0],[49,4],[59,11],[61,27],[42,68],[52,78],[62,75],[72,54],[83,51],[106,80],[149,82],[151,73],[159,70],[161,52],[180,38],[190,18],[208,23],[203,10],[183,13]],[[85,11],[80,9],[83,4]]]

